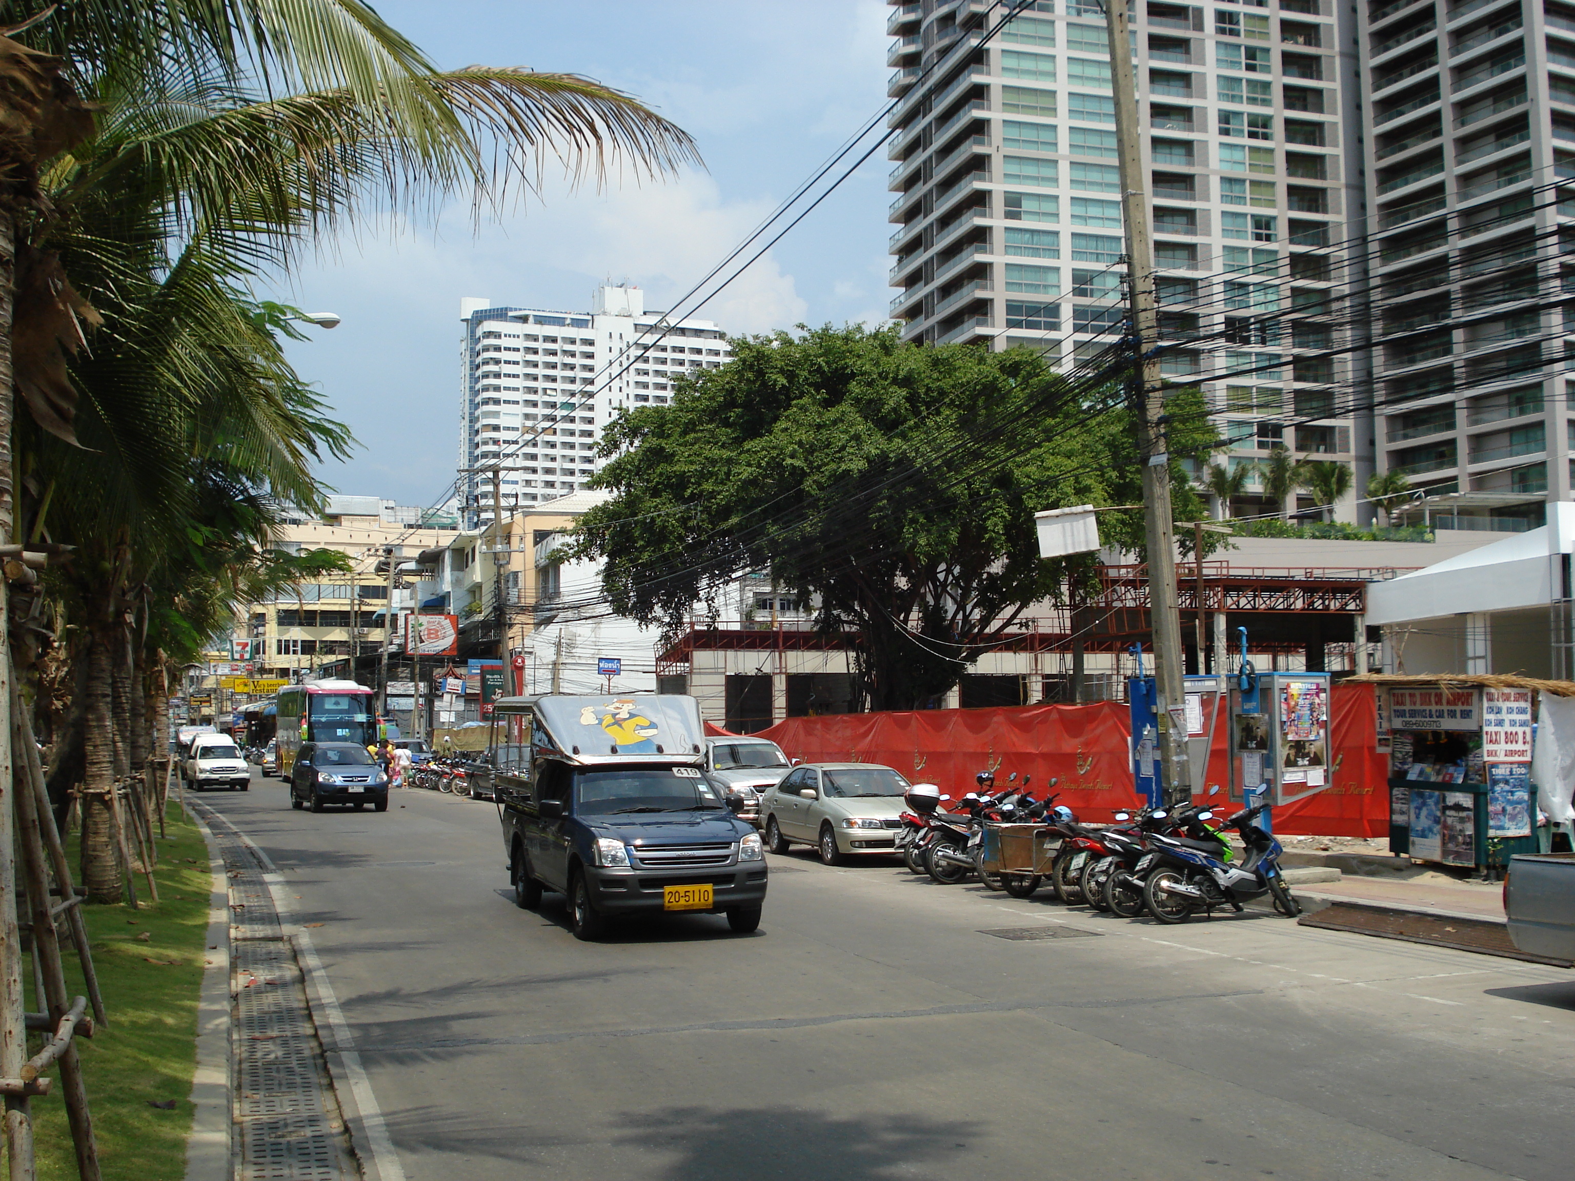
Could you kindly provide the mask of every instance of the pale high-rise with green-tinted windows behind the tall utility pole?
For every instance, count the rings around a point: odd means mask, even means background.
[[[1284,444],[1366,479],[1331,329],[1362,194],[1354,16],[1331,0],[1134,0],[1131,16],[1166,378],[1202,387],[1230,465]],[[1030,345],[1068,367],[1098,353],[1125,272],[1102,6],[893,3],[888,28],[907,339]]]

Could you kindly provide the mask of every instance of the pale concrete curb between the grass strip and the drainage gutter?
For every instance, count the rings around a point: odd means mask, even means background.
[[[186,1142],[186,1181],[230,1181],[233,1121],[230,1079],[230,890],[224,857],[197,809],[184,811],[208,847],[208,934],[203,939],[202,990],[197,997],[197,1071],[192,1075],[192,1131]]]

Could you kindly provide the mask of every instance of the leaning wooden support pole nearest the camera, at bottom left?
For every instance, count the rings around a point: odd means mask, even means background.
[[[17,776],[32,781],[28,751],[36,753],[38,746],[30,742],[30,734],[22,724],[24,710],[11,690],[11,751],[22,762]],[[47,809],[46,809],[47,813]],[[93,1113],[88,1107],[88,1088],[82,1077],[82,1060],[71,1036],[77,1030],[77,1022],[87,1011],[87,997],[77,997],[72,1003],[66,992],[66,965],[60,954],[60,932],[55,927],[55,913],[49,904],[49,858],[44,853],[43,819],[39,817],[38,800],[32,790],[16,792],[16,825],[22,846],[22,872],[27,876],[27,896],[33,913],[33,954],[43,968],[43,995],[39,1003],[49,1011],[55,1025],[55,1036],[33,1057],[17,1077],[32,1082],[50,1063],[60,1063],[60,1085],[65,1091],[66,1118],[71,1121],[71,1143],[77,1153],[77,1175],[82,1181],[99,1181],[98,1145],[93,1140]],[[69,879],[60,883],[61,891],[71,888]],[[76,907],[71,909],[72,913]]]

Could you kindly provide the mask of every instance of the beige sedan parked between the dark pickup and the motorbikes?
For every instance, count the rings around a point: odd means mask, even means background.
[[[825,864],[847,855],[893,853],[909,781],[876,762],[806,762],[765,792],[765,846],[786,853],[813,844]]]

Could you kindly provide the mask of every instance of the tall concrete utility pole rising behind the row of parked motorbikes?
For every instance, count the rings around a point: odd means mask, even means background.
[[[1148,616],[1154,635],[1154,687],[1159,705],[1159,759],[1169,803],[1192,798],[1186,756],[1186,688],[1181,668],[1181,609],[1177,605],[1175,535],[1170,521],[1170,457],[1166,447],[1164,389],[1159,383],[1159,309],[1154,299],[1154,246],[1148,233],[1148,173],[1137,121],[1131,19],[1126,0],[1106,0],[1110,77],[1115,83],[1115,139],[1121,164],[1126,225],[1128,299],[1132,320],[1134,411],[1143,461],[1143,521],[1148,546]],[[1173,710],[1173,712],[1172,712]]]

